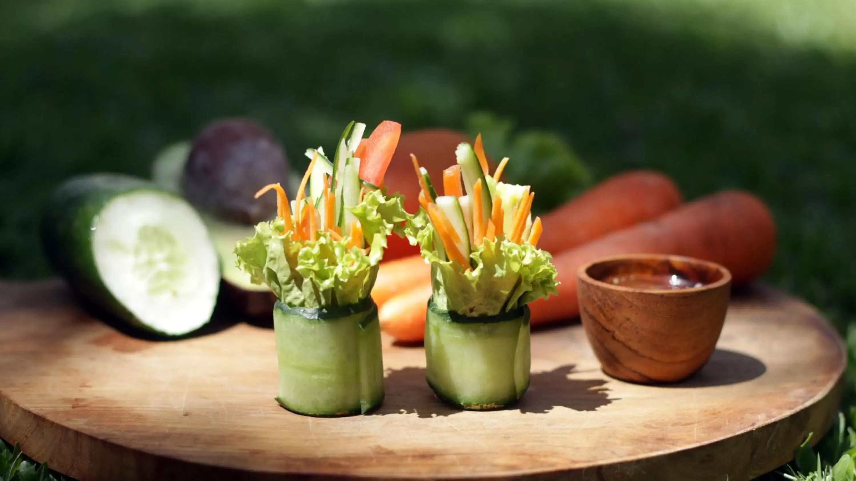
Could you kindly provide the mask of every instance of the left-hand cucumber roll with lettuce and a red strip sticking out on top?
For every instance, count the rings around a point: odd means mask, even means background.
[[[278,183],[276,219],[238,242],[238,266],[276,294],[274,328],[279,396],[293,412],[343,416],[383,400],[377,306],[370,294],[386,238],[409,221],[400,195],[383,193],[383,175],[401,125],[384,121],[367,139],[350,123],[332,160],[312,159],[294,201]],[[309,195],[306,195],[308,183]]]

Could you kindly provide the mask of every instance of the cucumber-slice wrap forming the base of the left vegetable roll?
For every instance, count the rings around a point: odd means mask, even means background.
[[[333,308],[273,310],[279,395],[306,416],[366,413],[383,402],[383,358],[377,304],[365,298]]]

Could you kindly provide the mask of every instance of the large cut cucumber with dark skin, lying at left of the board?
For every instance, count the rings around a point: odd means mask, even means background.
[[[220,286],[205,223],[179,196],[134,177],[76,177],[45,208],[42,244],[86,301],[139,328],[187,334],[211,318]]]

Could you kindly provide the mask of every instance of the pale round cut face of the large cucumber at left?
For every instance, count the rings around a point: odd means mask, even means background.
[[[220,286],[217,252],[204,221],[174,195],[117,195],[92,225],[98,275],[141,327],[187,334],[211,318]]]

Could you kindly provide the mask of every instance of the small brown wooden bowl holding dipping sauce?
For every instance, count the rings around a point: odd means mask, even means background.
[[[628,275],[677,275],[693,287],[615,284]],[[713,353],[728,310],[728,269],[689,257],[639,254],[591,262],[577,276],[586,336],[609,376],[646,384],[677,382],[701,369]]]

